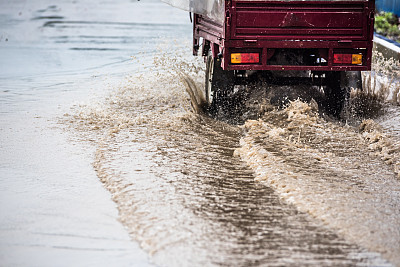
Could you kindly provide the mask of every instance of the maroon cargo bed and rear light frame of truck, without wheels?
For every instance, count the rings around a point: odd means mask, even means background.
[[[374,0],[226,0],[222,22],[195,14],[194,54],[203,38],[203,55],[210,48],[226,70],[370,70],[374,11]],[[232,62],[238,53],[258,55],[259,61]],[[280,61],[277,54],[299,60]],[[359,54],[362,62],[334,60],[346,54]]]

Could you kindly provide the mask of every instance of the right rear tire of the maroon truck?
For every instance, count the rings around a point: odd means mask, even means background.
[[[362,90],[361,72],[332,71],[326,73],[326,80],[327,111],[339,118],[345,102],[350,98],[351,88]]]

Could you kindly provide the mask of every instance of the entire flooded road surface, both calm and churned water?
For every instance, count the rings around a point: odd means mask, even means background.
[[[39,189],[23,183],[10,186],[16,169],[27,172],[25,166],[40,165],[41,171],[36,172],[40,177],[71,170],[72,181],[65,174],[62,184],[58,179],[32,184],[58,192],[61,199],[74,192],[71,209],[92,199],[86,194],[96,196],[96,201],[82,208],[82,215],[63,226],[63,231],[49,218],[69,221],[73,212],[55,216],[53,211],[67,210],[68,199],[48,205],[46,200],[57,197],[45,197],[37,202],[48,214],[41,226],[19,223],[13,231],[22,235],[41,228],[58,236],[65,232],[87,236],[89,229],[98,228],[89,236],[102,240],[101,247],[58,239],[59,246],[81,251],[78,262],[91,263],[88,257],[95,257],[96,266],[109,262],[117,266],[400,264],[398,106],[391,105],[390,113],[374,118],[375,122],[351,126],[320,116],[318,109],[301,101],[284,109],[263,108],[258,118],[243,125],[214,120],[193,112],[187,93],[202,90],[204,62],[190,54],[186,13],[174,13],[158,1],[121,1],[104,2],[102,12],[95,14],[99,10],[95,12],[89,2],[54,6],[38,1],[40,8],[30,9],[26,23],[34,30],[39,27],[44,44],[29,42],[27,51],[41,51],[43,58],[43,45],[55,49],[44,64],[51,69],[57,57],[58,67],[54,71],[35,67],[22,74],[16,68],[1,77],[1,138],[12,140],[2,147],[2,173],[7,174],[2,182],[8,185],[4,192],[30,191],[33,196],[23,196],[34,199]],[[158,16],[150,19],[154,10]],[[120,16],[110,15],[115,13]],[[15,46],[2,47],[2,57],[12,66],[15,57],[7,57],[4,51]],[[14,124],[14,118],[20,124]],[[22,145],[19,136],[27,139]],[[33,145],[32,139],[41,141]],[[26,165],[16,168],[21,157],[5,159],[13,148],[24,150],[22,146],[30,153],[22,158]],[[35,160],[34,155],[41,156]],[[70,160],[63,162],[62,156]],[[73,189],[62,190],[68,184]],[[113,221],[116,215],[101,185],[116,205],[119,225]],[[85,190],[88,193],[81,194]],[[16,243],[35,248],[42,244],[34,253],[20,249],[18,255],[28,259],[44,255],[50,262],[36,259],[38,265],[60,265],[49,256],[57,245],[45,234],[25,241],[10,234],[5,226],[27,219],[5,208],[9,199],[3,197],[2,213],[16,219],[1,223],[6,237],[2,250]],[[37,218],[34,205],[26,206],[31,218]],[[109,208],[103,211],[99,208],[103,206]],[[108,215],[92,214],[87,226],[81,227],[79,221],[88,210]],[[126,241],[122,226],[132,241],[119,243],[115,252],[116,245],[107,240]],[[100,253],[87,252],[91,250]],[[71,254],[57,255],[64,259]],[[16,257],[4,254],[1,259],[12,266],[18,262]]]

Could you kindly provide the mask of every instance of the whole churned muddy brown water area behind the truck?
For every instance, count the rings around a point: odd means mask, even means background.
[[[105,101],[64,118],[95,147],[120,221],[154,263],[399,264],[396,136],[301,101],[244,125],[197,114],[185,91],[201,90],[203,62],[167,50]],[[391,162],[382,159],[389,146]]]

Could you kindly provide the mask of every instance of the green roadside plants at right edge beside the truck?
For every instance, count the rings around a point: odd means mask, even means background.
[[[379,12],[375,16],[375,31],[400,43],[399,17],[391,12]]]

